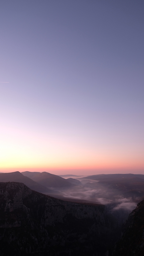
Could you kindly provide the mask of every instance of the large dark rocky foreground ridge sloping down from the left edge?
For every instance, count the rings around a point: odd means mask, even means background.
[[[104,205],[58,200],[23,183],[0,182],[1,256],[104,256],[116,222]]]

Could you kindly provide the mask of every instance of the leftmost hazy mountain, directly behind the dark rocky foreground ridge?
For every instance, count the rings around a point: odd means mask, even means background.
[[[8,182],[8,181],[22,182],[29,188],[41,193],[48,193],[50,191],[48,188],[44,187],[38,182],[35,182],[28,177],[25,177],[20,172],[0,173],[0,182]]]

